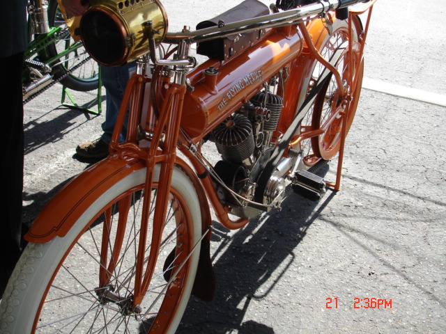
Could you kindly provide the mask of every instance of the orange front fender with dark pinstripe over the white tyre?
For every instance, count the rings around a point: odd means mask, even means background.
[[[141,159],[114,159],[109,157],[87,168],[63,186],[61,191],[49,201],[34,220],[24,239],[34,243],[45,243],[56,236],[64,237],[75,224],[79,215],[102,193],[118,180],[145,168],[145,166]],[[177,158],[176,167],[183,170],[197,190],[201,207],[201,225],[204,232],[208,230],[212,223],[206,195],[197,180],[197,176],[185,161]],[[74,214],[75,212],[78,214]],[[210,233],[208,234],[209,237]]]

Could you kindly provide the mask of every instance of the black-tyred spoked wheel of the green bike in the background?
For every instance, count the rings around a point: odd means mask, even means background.
[[[56,77],[72,71],[61,80],[61,84],[78,91],[89,91],[98,88],[98,63],[89,56],[82,46],[82,42],[72,40],[56,0],[49,1],[48,20],[49,26],[60,26],[61,33],[54,43],[48,45],[44,57],[46,60],[51,60],[49,65],[59,64],[54,66],[53,70]],[[61,53],[66,50],[70,51],[61,56]],[[80,63],[82,65],[79,65]],[[78,65],[79,67],[77,67]],[[73,70],[75,67],[77,68]]]

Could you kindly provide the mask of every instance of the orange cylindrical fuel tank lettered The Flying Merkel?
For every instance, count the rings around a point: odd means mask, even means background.
[[[296,58],[302,45],[295,26],[272,29],[228,61],[210,59],[201,64],[188,75],[194,90],[185,95],[183,130],[197,143]]]

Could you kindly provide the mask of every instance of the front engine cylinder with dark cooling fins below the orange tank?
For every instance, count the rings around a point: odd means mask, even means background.
[[[241,162],[254,152],[254,136],[249,119],[236,113],[213,131],[217,149],[226,161]]]

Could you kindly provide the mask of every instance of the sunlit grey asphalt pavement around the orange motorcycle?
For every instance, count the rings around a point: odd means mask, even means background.
[[[163,3],[178,30],[238,1]],[[293,194],[242,230],[215,222],[215,299],[192,298],[178,333],[446,333],[444,17],[443,0],[378,0],[341,191],[317,203]],[[61,86],[24,114],[31,223],[89,166],[75,147],[100,136],[104,115],[61,106]]]

